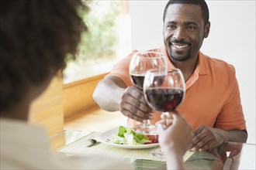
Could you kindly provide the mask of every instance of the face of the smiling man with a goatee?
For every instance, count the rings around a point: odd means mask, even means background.
[[[204,26],[199,5],[169,5],[164,19],[164,45],[171,60],[196,58],[202,41],[209,35],[209,23]]]

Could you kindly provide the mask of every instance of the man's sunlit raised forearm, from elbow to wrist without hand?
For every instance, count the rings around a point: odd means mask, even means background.
[[[117,111],[125,90],[126,84],[123,80],[117,76],[107,76],[98,83],[92,97],[102,109]]]

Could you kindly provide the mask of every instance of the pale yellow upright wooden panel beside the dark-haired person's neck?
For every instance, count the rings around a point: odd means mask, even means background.
[[[49,136],[63,131],[64,114],[62,99],[63,79],[55,77],[47,90],[33,101],[29,112],[29,123],[47,128]]]

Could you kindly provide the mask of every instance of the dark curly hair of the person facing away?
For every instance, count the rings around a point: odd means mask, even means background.
[[[75,58],[87,30],[78,0],[0,1],[0,110],[17,104],[31,85],[43,83]]]

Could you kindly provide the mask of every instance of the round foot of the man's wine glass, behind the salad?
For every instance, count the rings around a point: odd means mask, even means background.
[[[133,131],[138,134],[157,134],[156,126],[152,124],[137,124],[133,127]]]

